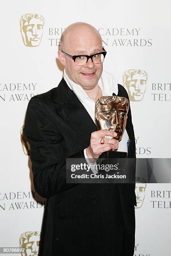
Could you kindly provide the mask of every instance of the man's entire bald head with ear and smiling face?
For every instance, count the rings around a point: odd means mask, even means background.
[[[91,90],[94,87],[98,89],[98,81],[103,70],[102,61],[95,64],[93,59],[89,58],[85,64],[78,65],[72,57],[84,55],[95,57],[96,54],[104,51],[102,38],[97,29],[83,22],[71,24],[62,33],[60,44],[59,61],[64,65],[69,79],[84,90]]]

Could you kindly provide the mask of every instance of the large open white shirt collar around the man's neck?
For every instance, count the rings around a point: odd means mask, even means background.
[[[71,79],[69,79],[65,69],[64,80],[66,81],[66,84],[69,86],[69,88],[73,90],[73,92],[77,95],[81,102],[84,102],[84,100],[86,99],[90,99],[87,93],[82,89],[79,84],[76,84]],[[98,85],[102,90],[103,96],[112,96],[113,92],[115,93],[115,95],[117,95],[118,93],[118,86],[115,76],[106,71],[102,72],[102,76],[99,79]]]

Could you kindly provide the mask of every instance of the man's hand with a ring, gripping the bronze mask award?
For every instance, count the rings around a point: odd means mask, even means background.
[[[103,152],[118,148],[119,141],[114,138],[105,138],[105,136],[115,137],[117,136],[117,133],[114,131],[99,130],[91,134],[90,143],[86,149],[87,157],[89,159],[98,159]],[[100,144],[102,137],[105,141],[104,144]]]

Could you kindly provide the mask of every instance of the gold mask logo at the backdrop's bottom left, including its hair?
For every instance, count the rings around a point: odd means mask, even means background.
[[[26,252],[22,256],[38,255],[41,233],[38,231],[24,232],[20,236],[20,247],[25,248]]]

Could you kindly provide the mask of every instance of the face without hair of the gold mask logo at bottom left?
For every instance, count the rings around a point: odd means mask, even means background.
[[[22,248],[26,248],[25,256],[38,255],[40,236],[31,236],[23,243]]]

